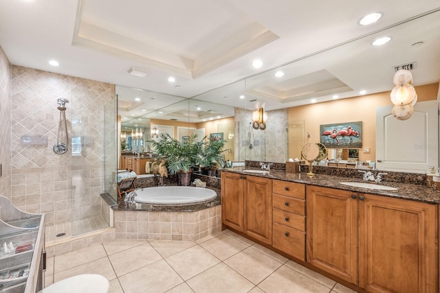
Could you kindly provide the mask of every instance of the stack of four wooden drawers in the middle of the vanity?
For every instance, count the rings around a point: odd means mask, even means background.
[[[272,181],[272,246],[305,261],[305,185]]]

